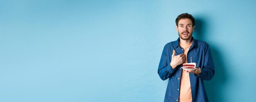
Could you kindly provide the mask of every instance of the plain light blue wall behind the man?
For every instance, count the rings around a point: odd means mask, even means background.
[[[157,68],[196,19],[211,102],[256,102],[255,0],[0,0],[0,102],[163,102]]]

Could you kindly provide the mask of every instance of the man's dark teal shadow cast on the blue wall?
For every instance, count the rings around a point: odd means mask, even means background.
[[[193,35],[195,36],[195,39],[205,41],[205,39],[207,38],[207,32],[210,31],[207,31],[207,23],[204,21],[208,20],[196,18],[196,26],[194,30],[195,34]],[[223,86],[226,85],[226,82],[228,80],[227,67],[225,67],[225,63],[223,63],[222,59],[224,58],[222,58],[220,49],[213,45],[209,46],[211,50],[211,55],[213,56],[213,62],[215,65],[215,74],[210,81],[204,81],[204,86],[206,88],[207,96],[210,102],[224,102],[225,95],[223,91]]]

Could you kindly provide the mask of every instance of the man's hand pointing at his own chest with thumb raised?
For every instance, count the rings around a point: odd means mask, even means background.
[[[185,54],[179,54],[179,55],[175,56],[175,50],[173,50],[172,61],[170,63],[172,69],[174,69],[178,65],[182,64],[185,61],[185,59],[186,59]]]

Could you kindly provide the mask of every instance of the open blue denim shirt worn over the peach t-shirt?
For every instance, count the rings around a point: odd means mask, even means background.
[[[173,50],[176,51],[175,56],[184,53],[183,48],[179,46],[179,40],[180,38],[178,38],[177,41],[172,41],[164,46],[157,71],[162,80],[169,78],[164,102],[179,101],[180,90],[178,89],[180,89],[182,66],[178,65],[172,69],[170,65]],[[211,78],[214,76],[215,71],[211,51],[209,45],[206,42],[196,40],[193,37],[192,40],[193,44],[189,48],[187,58],[192,57],[192,61],[196,63],[196,67],[200,67],[202,71],[199,76],[193,73],[189,73],[192,101],[209,102],[204,88],[203,80],[211,80]]]

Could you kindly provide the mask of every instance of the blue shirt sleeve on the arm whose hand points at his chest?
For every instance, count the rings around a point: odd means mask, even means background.
[[[172,55],[172,54],[168,54],[168,53],[173,53],[173,52],[168,52],[167,48],[168,48],[167,46],[164,46],[164,50],[162,52],[162,56],[160,59],[158,70],[157,70],[157,73],[162,80],[166,80],[166,79],[170,78],[171,75],[176,70],[176,68],[172,69],[171,65],[170,65],[171,58],[169,55]]]

